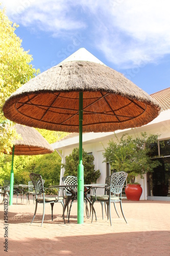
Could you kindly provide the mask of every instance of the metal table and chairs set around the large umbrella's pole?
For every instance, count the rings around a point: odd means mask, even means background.
[[[106,210],[106,215],[107,218],[110,219],[110,225],[112,225],[111,223],[111,210],[110,210],[110,206],[111,203],[114,203],[114,208],[115,211],[117,213],[116,210],[116,206],[115,203],[120,204],[120,209],[122,211],[122,215],[125,219],[124,213],[123,213],[123,209],[122,209],[122,190],[124,187],[124,183],[127,179],[128,174],[125,172],[119,172],[119,173],[113,173],[111,176],[108,176],[106,178],[106,184],[84,184],[84,202],[86,205],[86,216],[87,218],[90,217],[91,211],[92,211],[92,219],[91,222],[93,221],[93,213],[95,215],[95,220],[97,220],[96,218],[96,214],[95,214],[95,210],[94,210],[94,202],[95,201],[99,201],[101,202],[102,205],[102,216],[103,216],[103,206],[105,204],[105,210]],[[65,218],[64,218],[64,213],[65,210],[67,209],[67,219],[69,222],[69,217],[70,217],[70,211],[71,211],[71,206],[72,203],[74,202],[74,200],[77,200],[77,190],[78,190],[78,185],[77,185],[77,177],[75,176],[67,176],[64,177],[63,183],[64,185],[53,185],[50,186],[49,188],[45,188],[43,186],[43,181],[42,181],[42,177],[39,174],[30,174],[30,178],[31,181],[33,183],[34,189],[35,189],[35,212],[34,212],[34,216],[32,219],[32,222],[34,221],[35,215],[36,215],[36,211],[37,211],[37,205],[38,203],[43,203],[43,215],[42,215],[42,221],[41,221],[41,226],[43,224],[43,220],[44,220],[44,214],[45,214],[45,203],[50,203],[51,204],[51,208],[52,208],[52,221],[53,221],[53,206],[54,203],[61,203],[63,206],[63,221],[65,224]],[[45,197],[45,189],[52,189],[55,188],[58,191],[58,195],[57,196],[53,196],[53,197]],[[105,189],[105,193],[104,195],[97,195],[96,194],[96,190],[97,188],[104,188]],[[60,193],[60,189],[63,190],[62,196],[59,196]],[[88,196],[88,191],[90,191],[90,189],[93,190],[93,195],[91,195],[90,197]],[[41,196],[42,195],[42,196]],[[38,197],[40,196],[40,197]],[[64,203],[65,201],[65,203]],[[68,205],[70,203],[70,207],[69,207],[69,211],[68,211]],[[89,203],[90,205],[90,214],[88,211],[88,206],[87,203]],[[106,207],[107,205],[107,207]],[[118,213],[117,216],[119,217]],[[125,219],[126,221],[126,219]],[[31,223],[32,223],[31,222]],[[127,221],[126,221],[127,223]]]

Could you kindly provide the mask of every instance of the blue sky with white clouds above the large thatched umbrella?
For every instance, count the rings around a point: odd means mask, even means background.
[[[170,85],[168,0],[0,0],[41,72],[86,48],[145,92]]]

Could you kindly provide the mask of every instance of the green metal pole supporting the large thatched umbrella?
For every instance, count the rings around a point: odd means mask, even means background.
[[[83,133],[83,92],[79,93],[79,165],[78,165],[78,213],[77,213],[77,223],[84,223],[84,166],[83,166],[83,143],[82,143],[82,133]]]

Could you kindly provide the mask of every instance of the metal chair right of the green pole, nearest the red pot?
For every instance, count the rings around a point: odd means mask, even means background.
[[[105,195],[93,195],[91,196],[92,199],[92,206],[94,204],[95,201],[100,201],[102,204],[102,215],[103,215],[103,205],[104,203],[106,203],[107,205],[107,218],[110,219],[110,225],[112,225],[111,223],[111,210],[110,210],[110,206],[111,203],[114,203],[114,207],[115,207],[115,203],[120,203],[120,209],[122,211],[122,215],[125,219],[124,216],[124,212],[122,209],[122,189],[124,187],[124,183],[126,181],[128,177],[128,174],[125,172],[118,172],[118,173],[113,173],[110,178],[109,176],[107,177],[107,181],[106,181],[106,188],[105,188]],[[110,180],[110,182],[109,182]],[[107,194],[107,195],[106,195]],[[116,210],[116,207],[115,207]],[[116,210],[117,213],[117,210]],[[118,215],[118,213],[117,213]],[[118,216],[119,217],[119,216]],[[92,220],[93,220],[93,207],[92,207]],[[91,220],[91,222],[92,222]],[[127,223],[127,221],[126,221]]]

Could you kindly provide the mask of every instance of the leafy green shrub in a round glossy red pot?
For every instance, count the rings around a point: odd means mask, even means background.
[[[135,178],[148,172],[153,172],[154,168],[160,165],[160,162],[153,160],[155,143],[157,145],[159,135],[147,136],[147,133],[141,133],[140,137],[133,138],[128,134],[116,141],[111,139],[108,146],[104,147],[104,162],[109,162],[115,172],[128,173],[128,185],[125,188],[127,199],[138,201],[140,199],[142,188]],[[133,191],[132,191],[133,190]]]

